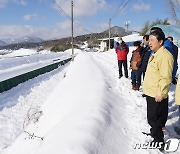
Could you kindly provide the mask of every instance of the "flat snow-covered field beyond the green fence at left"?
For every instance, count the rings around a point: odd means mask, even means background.
[[[79,52],[79,50],[76,51]],[[0,55],[0,81],[70,57],[70,50],[59,53],[51,53],[50,51],[37,52],[32,49],[11,51],[9,54]]]

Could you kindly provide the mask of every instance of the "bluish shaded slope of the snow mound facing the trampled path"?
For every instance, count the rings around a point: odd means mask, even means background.
[[[112,77],[107,72],[107,69],[97,60],[97,57],[92,54],[93,61],[104,74],[107,89],[104,93],[104,105],[102,111],[105,111],[104,119],[106,124],[100,127],[100,132],[96,136],[99,142],[97,147],[98,154],[119,154],[125,153],[129,138],[126,132],[126,122],[120,118],[123,113],[123,108],[119,106],[119,99],[122,99],[114,89],[114,82],[111,83]],[[117,99],[118,98],[118,99]],[[120,112],[119,112],[120,111]],[[119,114],[120,113],[120,114]],[[124,140],[122,140],[124,138]],[[121,147],[126,147],[122,149]]]

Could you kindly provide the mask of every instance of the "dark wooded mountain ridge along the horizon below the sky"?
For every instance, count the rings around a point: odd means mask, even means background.
[[[124,28],[118,26],[113,26],[111,27],[110,30],[111,30],[111,37],[123,37],[132,33],[131,31],[127,32]],[[98,46],[100,41],[99,39],[108,38],[108,37],[109,37],[109,30],[107,29],[100,33],[90,33],[90,34],[75,36],[74,44],[81,44],[87,41],[89,44],[91,44],[91,46]],[[42,42],[21,41],[20,43],[13,43],[3,47],[1,46],[0,49],[19,49],[19,48],[50,49],[52,47],[57,47],[57,46],[63,51],[68,48],[71,48],[71,37],[55,39],[55,40],[46,40]]]

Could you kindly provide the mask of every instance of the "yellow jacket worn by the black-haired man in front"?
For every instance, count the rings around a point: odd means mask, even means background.
[[[168,97],[173,63],[172,54],[164,46],[150,57],[143,82],[144,94],[150,97]]]

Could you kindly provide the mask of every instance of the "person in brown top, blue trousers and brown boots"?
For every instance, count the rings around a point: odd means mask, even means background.
[[[141,85],[141,80],[139,78],[139,67],[137,64],[141,61],[141,42],[140,41],[135,41],[133,43],[134,47],[136,48],[132,52],[132,57],[130,60],[130,66],[132,68],[131,71],[131,80],[132,80],[132,89],[133,90],[139,90],[139,87]]]

